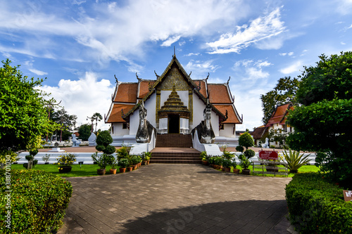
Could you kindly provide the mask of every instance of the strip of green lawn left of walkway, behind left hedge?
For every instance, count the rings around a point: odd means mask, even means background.
[[[110,169],[111,167],[106,167],[106,175],[110,174]],[[116,173],[118,173],[118,168]],[[11,169],[25,169],[23,167],[23,164],[12,164]],[[80,169],[79,164],[74,164],[72,166],[72,170],[69,173],[58,173],[58,166],[53,165],[53,164],[37,164],[32,170],[40,170],[40,171],[46,171],[51,174],[55,174],[57,176],[61,177],[80,177],[80,176],[99,176],[96,174],[96,169],[99,169],[98,165],[96,164],[83,164],[82,169]]]

